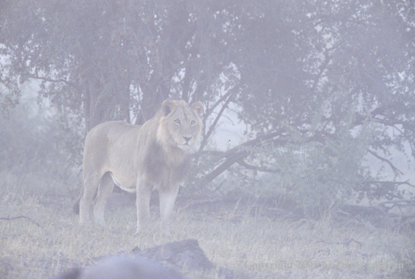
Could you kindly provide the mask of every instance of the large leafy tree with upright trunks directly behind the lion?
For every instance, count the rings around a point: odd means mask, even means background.
[[[66,131],[79,134],[84,120],[85,132],[104,120],[142,124],[169,97],[209,101],[225,83],[218,75],[228,67],[221,62],[227,49],[213,42],[221,25],[202,16],[202,1],[2,5],[3,111],[18,102],[20,83],[42,80],[39,96],[61,109]]]

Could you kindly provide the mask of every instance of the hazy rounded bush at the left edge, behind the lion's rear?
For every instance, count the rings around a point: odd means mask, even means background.
[[[0,119],[1,185],[26,185],[23,189],[35,192],[76,187],[73,159],[61,146],[64,131],[56,117],[54,111],[37,112],[25,102],[11,111],[8,120]]]

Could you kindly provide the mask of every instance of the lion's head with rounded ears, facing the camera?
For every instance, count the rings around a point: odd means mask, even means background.
[[[189,150],[197,142],[202,131],[202,120],[199,116],[202,116],[203,111],[204,106],[201,102],[189,106],[183,100],[163,101],[159,111],[157,139],[163,146]]]

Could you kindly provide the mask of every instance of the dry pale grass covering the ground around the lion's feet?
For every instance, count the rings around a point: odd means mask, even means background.
[[[25,215],[44,228],[25,218],[0,220],[0,278],[54,278],[98,257],[187,238],[199,240],[208,259],[234,269],[237,278],[411,278],[414,271],[413,231],[341,225],[330,218],[271,221],[240,209],[200,214],[179,203],[171,235],[161,235],[156,225],[136,234],[133,205],[110,206],[104,229],[80,227],[71,208],[77,193],[45,189],[0,182],[0,216]]]

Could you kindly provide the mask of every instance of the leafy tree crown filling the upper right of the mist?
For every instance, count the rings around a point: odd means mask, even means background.
[[[291,45],[275,42],[286,52],[276,54],[275,59],[274,54],[255,52],[260,65],[255,73],[266,82],[259,85],[260,94],[254,91],[255,86],[251,99],[241,99],[247,112],[244,119],[251,121],[260,134],[275,133],[275,140],[292,142],[292,135],[298,133],[301,143],[320,142],[323,146],[341,139],[345,129],[352,132],[373,123],[377,135],[367,151],[388,162],[399,175],[383,154],[390,147],[403,151],[407,142],[411,156],[415,155],[415,87],[414,75],[409,71],[415,57],[411,26],[414,7],[404,1],[306,1],[286,6],[286,17],[281,11],[264,10],[256,26],[260,25],[261,30],[268,27],[268,32],[255,32],[252,35],[261,37],[247,41],[278,38],[269,27],[276,25],[281,29],[286,26],[292,35]],[[275,23],[270,24],[270,20]],[[277,63],[282,68],[274,66],[278,58],[283,59]],[[359,191],[379,197],[381,188],[383,197],[402,197],[396,187],[388,185],[385,191],[385,185],[371,181],[361,181]]]

